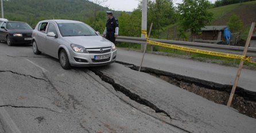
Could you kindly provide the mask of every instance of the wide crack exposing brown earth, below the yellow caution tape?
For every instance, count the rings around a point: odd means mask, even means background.
[[[134,71],[138,71],[139,69],[134,64],[122,61],[116,62]],[[148,73],[179,88],[223,105],[226,105],[232,89],[232,85],[214,83],[148,67],[142,67],[141,72]],[[237,87],[232,107],[237,109],[241,114],[256,118],[256,92]]]

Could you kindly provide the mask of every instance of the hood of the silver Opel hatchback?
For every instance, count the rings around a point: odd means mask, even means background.
[[[71,44],[84,46],[86,49],[90,48],[105,48],[110,47],[113,43],[102,36],[79,36],[79,37],[64,37],[65,40]]]

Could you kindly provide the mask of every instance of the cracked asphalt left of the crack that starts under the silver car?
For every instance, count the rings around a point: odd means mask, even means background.
[[[0,90],[1,133],[185,132],[134,108],[147,107],[87,68],[65,71],[31,46],[0,44]]]

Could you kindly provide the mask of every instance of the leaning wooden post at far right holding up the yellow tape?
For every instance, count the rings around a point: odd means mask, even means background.
[[[243,56],[246,56],[246,54],[247,54],[247,50],[248,50],[248,47],[249,47],[250,42],[251,42],[251,36],[253,36],[254,28],[255,28],[255,22],[253,22],[253,24],[251,24],[251,29],[250,29],[250,32],[249,32],[249,35],[248,35],[248,38],[247,38],[247,41],[246,41],[245,50],[243,50]],[[242,68],[243,68],[243,62],[245,62],[245,61],[241,60],[238,72],[236,73],[234,85],[232,87],[232,91],[230,93],[230,98],[228,99],[228,103],[227,103],[228,107],[230,107],[231,104],[232,104],[232,100],[233,100],[233,97],[235,95],[235,90],[236,90],[236,87],[238,85],[239,77],[241,75],[241,71],[242,71]]]

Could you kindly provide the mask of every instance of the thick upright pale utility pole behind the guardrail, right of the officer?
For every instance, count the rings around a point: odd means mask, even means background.
[[[142,1],[142,19],[141,19],[141,31],[147,30],[147,15],[148,15],[148,0]],[[141,38],[146,38],[145,34],[141,34]],[[141,50],[144,50],[146,44],[141,44]]]

